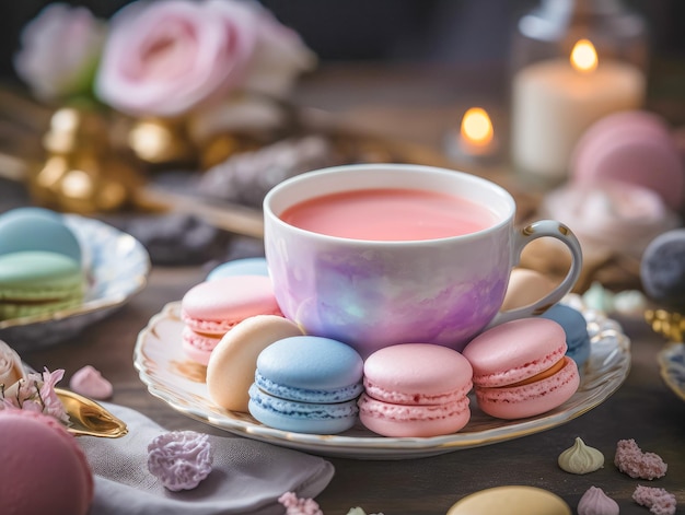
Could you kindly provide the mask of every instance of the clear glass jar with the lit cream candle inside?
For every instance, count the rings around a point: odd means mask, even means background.
[[[514,169],[562,182],[588,127],[643,105],[648,58],[647,24],[619,0],[542,0],[523,15],[511,54]]]

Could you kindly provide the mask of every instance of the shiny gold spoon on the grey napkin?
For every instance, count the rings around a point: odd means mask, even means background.
[[[94,400],[63,388],[55,388],[55,393],[69,414],[67,430],[71,434],[118,438],[128,433],[126,423]]]

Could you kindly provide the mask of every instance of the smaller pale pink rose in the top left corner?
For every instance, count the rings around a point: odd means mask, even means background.
[[[16,73],[45,101],[90,93],[105,32],[86,8],[51,3],[22,31]]]

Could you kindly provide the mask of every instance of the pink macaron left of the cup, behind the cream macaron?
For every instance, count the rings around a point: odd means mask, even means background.
[[[207,365],[221,338],[255,315],[282,316],[268,277],[234,276],[196,284],[181,301],[185,354]]]

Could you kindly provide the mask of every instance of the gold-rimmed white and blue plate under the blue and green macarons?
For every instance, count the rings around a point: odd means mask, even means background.
[[[78,214],[63,218],[83,250],[88,291],[80,306],[0,320],[0,339],[20,354],[71,338],[123,306],[147,283],[150,257],[133,236],[95,219]]]

